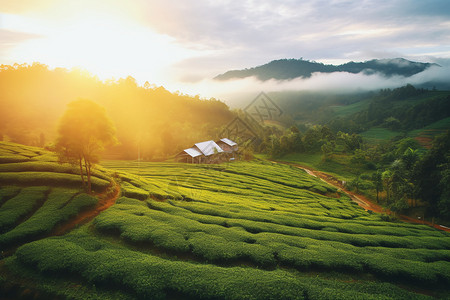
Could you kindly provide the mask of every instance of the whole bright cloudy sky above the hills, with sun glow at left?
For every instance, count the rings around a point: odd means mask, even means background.
[[[340,64],[395,57],[447,66],[450,1],[0,0],[0,64],[79,67],[101,79],[130,75],[141,84],[206,97],[248,85],[299,89],[356,79],[211,80],[275,59]],[[358,88],[371,84],[358,79]]]

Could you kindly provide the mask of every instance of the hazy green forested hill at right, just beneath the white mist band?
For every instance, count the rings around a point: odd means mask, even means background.
[[[410,84],[359,94],[281,91],[269,96],[297,124],[326,124],[335,132],[360,133],[372,127],[410,131],[450,117],[450,91]]]

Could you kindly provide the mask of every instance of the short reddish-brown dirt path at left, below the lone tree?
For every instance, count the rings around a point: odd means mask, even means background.
[[[88,223],[96,216],[98,216],[102,211],[104,211],[105,209],[109,208],[114,203],[116,203],[116,200],[117,198],[119,198],[119,195],[120,195],[120,185],[115,183],[114,192],[112,194],[97,195],[99,197],[99,200],[94,208],[89,209],[87,211],[83,211],[78,215],[76,215],[74,218],[70,219],[69,221],[57,226],[55,229],[53,229],[50,235],[63,235],[79,225]]]

